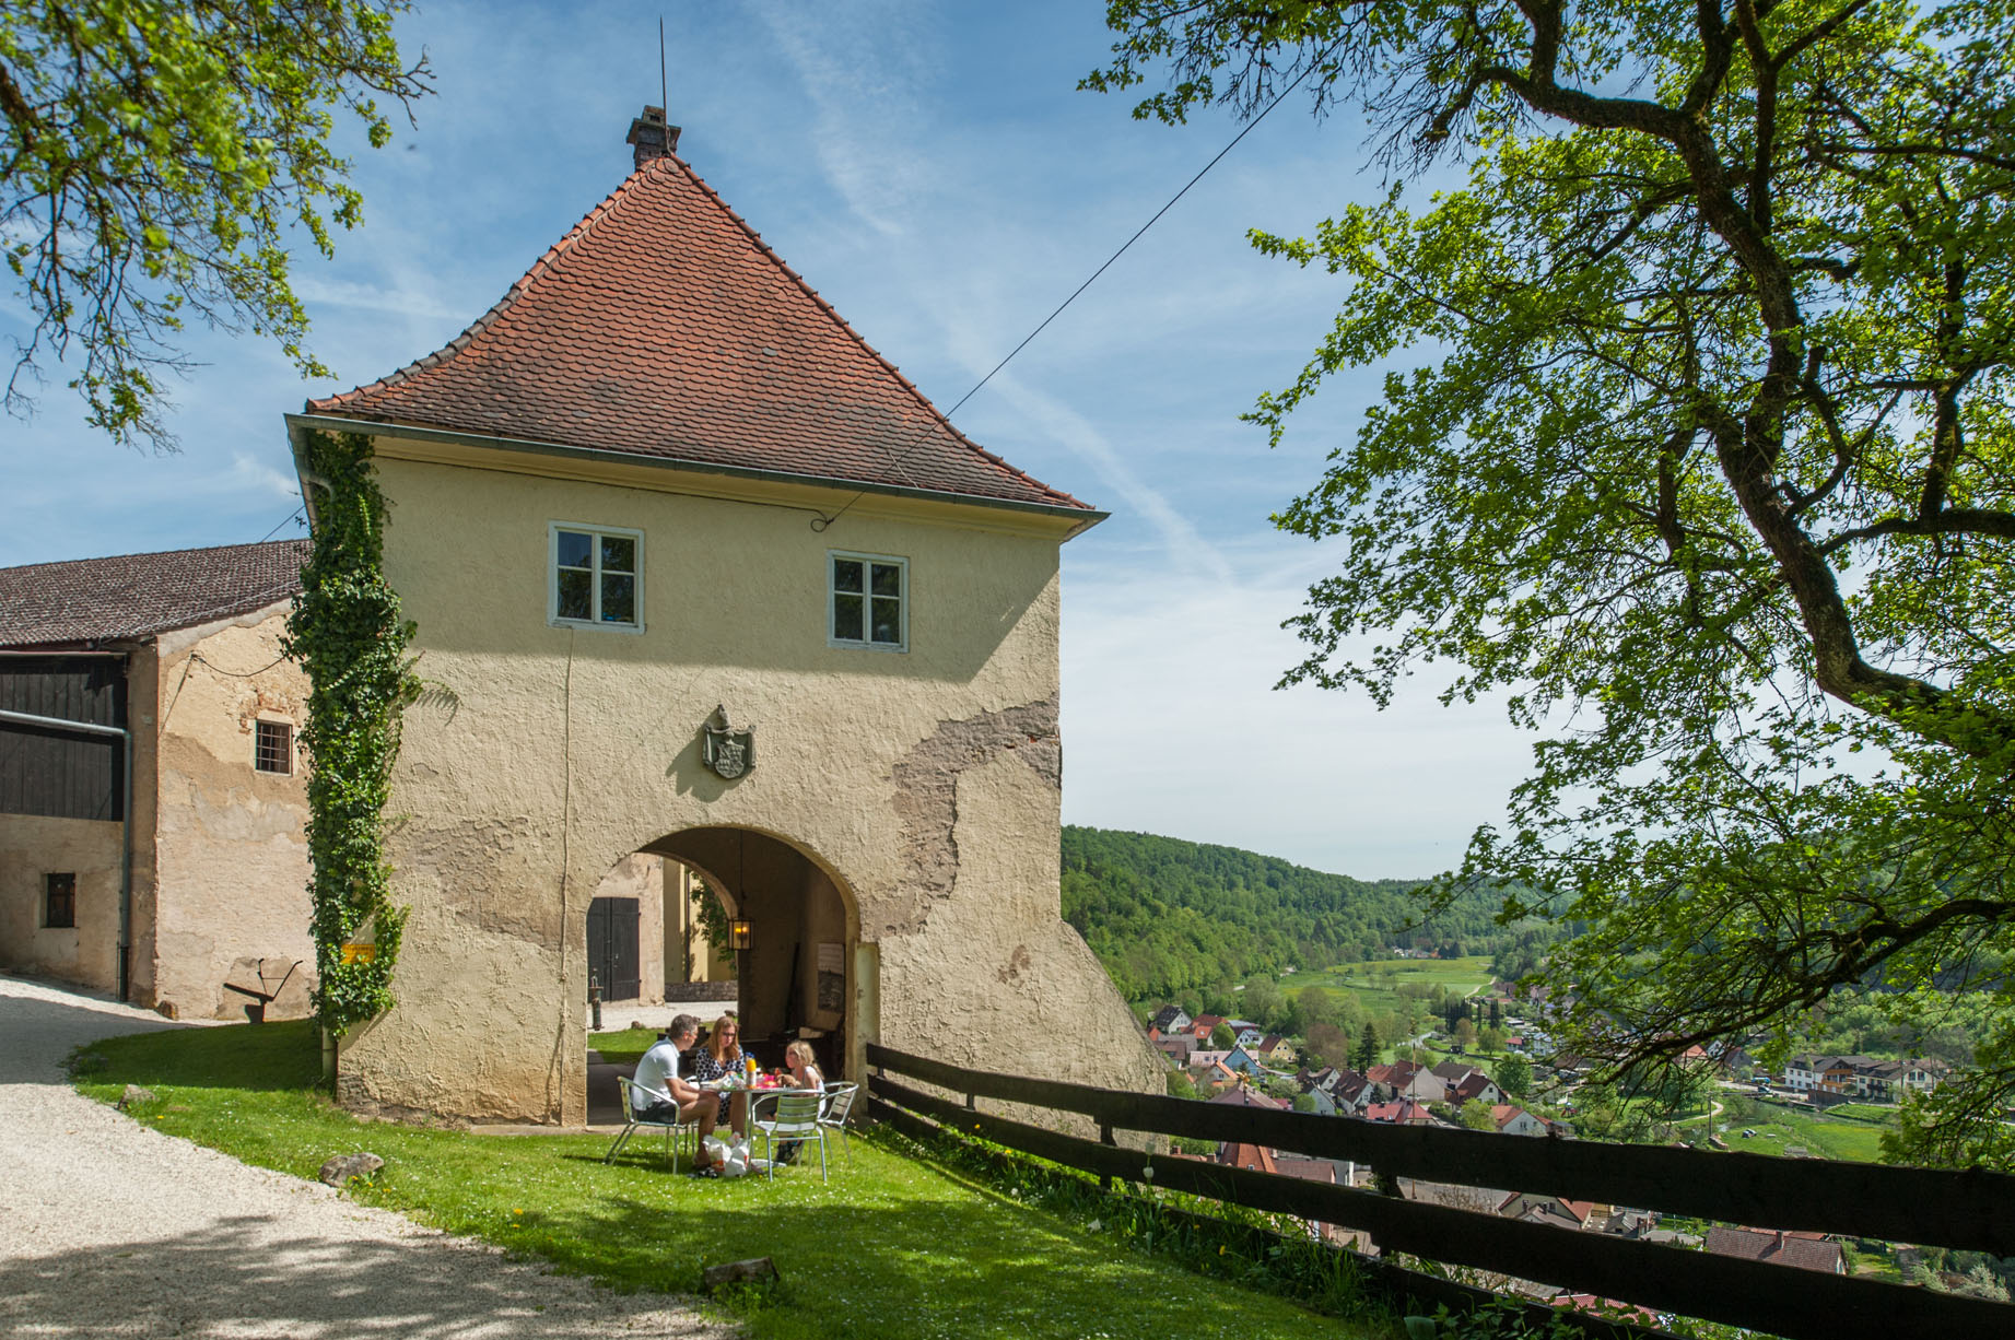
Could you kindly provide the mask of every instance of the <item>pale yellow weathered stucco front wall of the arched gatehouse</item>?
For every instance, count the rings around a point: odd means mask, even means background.
[[[411,905],[399,1008],[345,1040],[345,1096],[582,1120],[586,903],[627,852],[699,826],[784,838],[832,881],[850,989],[879,1001],[850,1064],[881,1040],[1159,1088],[1159,1058],[1058,919],[1066,524],[870,496],[820,534],[814,508],[846,494],[520,474],[548,467],[379,443],[385,570],[431,691],[391,802]],[[643,633],[548,625],[550,522],[645,534]],[[907,653],[828,647],[834,548],[909,560]],[[717,703],[756,727],[733,782],[699,762]]]

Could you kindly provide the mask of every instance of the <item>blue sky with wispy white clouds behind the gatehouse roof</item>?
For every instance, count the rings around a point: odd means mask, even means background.
[[[1078,93],[1108,46],[1102,8],[667,6],[681,157],[949,407],[1237,131]],[[302,383],[266,345],[199,332],[181,453],[145,455],[87,429],[58,371],[38,417],[0,419],[0,564],[282,526],[282,415],[445,345],[629,171],[623,135],[659,101],[659,12],[423,2],[399,32],[439,95],[387,149],[357,147],[367,224],[296,272],[337,377]],[[1239,423],[1342,292],[1245,230],[1302,234],[1380,191],[1354,125],[1286,103],[959,413],[1112,512],[1064,550],[1070,822],[1413,877],[1459,860],[1521,776],[1529,742],[1495,703],[1441,707],[1417,681],[1378,713],[1271,687],[1300,659],[1280,621],[1330,560],[1267,516],[1348,441],[1378,375],[1334,381],[1280,449]],[[20,322],[6,294],[0,334]]]

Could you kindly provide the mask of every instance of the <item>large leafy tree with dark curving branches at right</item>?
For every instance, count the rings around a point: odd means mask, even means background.
[[[2007,0],[1120,0],[1140,117],[1354,105],[1390,189],[1275,441],[1386,377],[1275,520],[1330,540],[1290,679],[1541,729],[1459,879],[1586,923],[1552,971],[1622,1060],[1789,1036],[1844,987],[2001,1010],[1904,1157],[2015,1167],[2015,18]],[[1467,163],[1410,202],[1396,181]],[[1360,635],[1370,649],[1358,651]]]

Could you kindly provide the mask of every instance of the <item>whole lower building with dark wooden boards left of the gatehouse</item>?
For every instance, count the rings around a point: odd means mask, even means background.
[[[308,1010],[304,540],[0,568],[0,967]]]

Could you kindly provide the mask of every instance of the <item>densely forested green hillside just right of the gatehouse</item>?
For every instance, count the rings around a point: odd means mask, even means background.
[[[1064,921],[1128,999],[1384,957],[1392,945],[1491,953],[1507,937],[1491,891],[1467,893],[1421,925],[1413,891],[1423,883],[1364,883],[1235,846],[1064,828]]]

